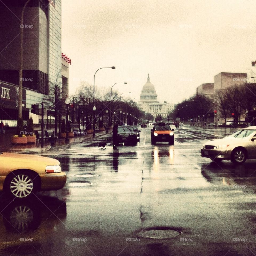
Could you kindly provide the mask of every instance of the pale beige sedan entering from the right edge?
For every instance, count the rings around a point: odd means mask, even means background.
[[[205,143],[201,149],[202,157],[212,161],[231,160],[241,164],[246,159],[256,159],[256,126],[241,129],[222,139]]]

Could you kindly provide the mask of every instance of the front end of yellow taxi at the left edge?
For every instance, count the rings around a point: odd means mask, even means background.
[[[39,190],[64,187],[66,173],[58,160],[37,155],[0,153],[0,191],[16,198],[27,198]]]

